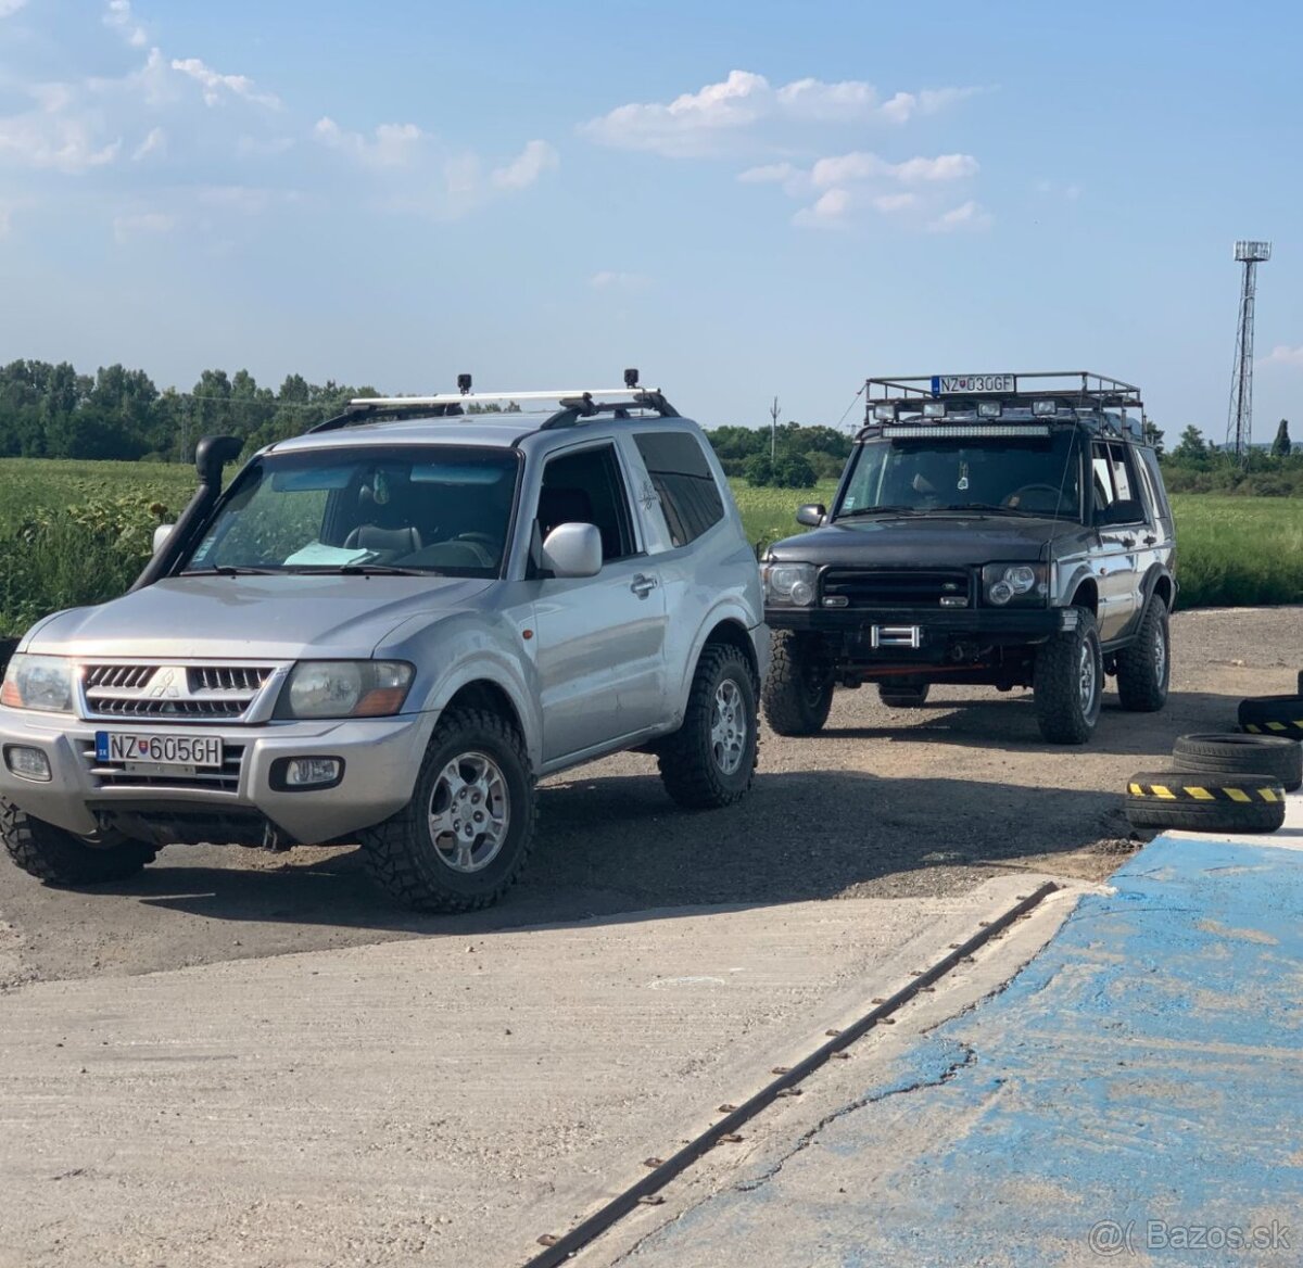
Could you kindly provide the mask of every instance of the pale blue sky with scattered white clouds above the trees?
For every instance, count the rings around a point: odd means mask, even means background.
[[[1264,237],[1255,433],[1303,439],[1300,35],[1199,0],[0,0],[0,361],[638,365],[708,425],[1085,367],[1221,439]]]

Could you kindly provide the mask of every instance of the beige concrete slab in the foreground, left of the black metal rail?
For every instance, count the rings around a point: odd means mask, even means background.
[[[0,1265],[524,1263],[1040,880],[18,987]]]

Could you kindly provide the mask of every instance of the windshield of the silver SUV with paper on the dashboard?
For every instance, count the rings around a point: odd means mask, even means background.
[[[519,456],[463,446],[270,454],[248,468],[184,573],[502,572]]]

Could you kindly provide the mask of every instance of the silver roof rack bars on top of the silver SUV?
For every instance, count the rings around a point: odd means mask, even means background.
[[[334,418],[317,424],[311,431],[334,431],[360,426],[379,418],[447,418],[463,417],[472,405],[496,403],[554,403],[558,408],[538,425],[539,430],[572,427],[584,418],[609,413],[627,418],[631,411],[652,409],[662,418],[678,418],[679,412],[659,390],[638,387],[638,371],[624,371],[624,387],[569,388],[555,392],[472,392],[470,375],[457,375],[456,392],[434,396],[358,396]]]

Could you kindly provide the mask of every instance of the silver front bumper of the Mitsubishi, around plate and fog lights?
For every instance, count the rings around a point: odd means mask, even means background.
[[[20,809],[68,831],[96,831],[106,817],[168,812],[259,814],[291,841],[331,841],[388,818],[412,796],[425,753],[433,714],[400,714],[326,722],[272,722],[262,726],[139,726],[85,722],[66,714],[43,714],[0,708],[0,796]],[[137,735],[214,735],[228,753],[241,748],[222,787],[186,783],[184,775],[108,778],[93,773],[95,732]],[[10,744],[40,749],[51,779],[35,782],[14,775],[3,749]],[[281,757],[339,757],[340,782],[331,788],[278,790],[271,768]],[[233,838],[232,838],[233,839]]]

